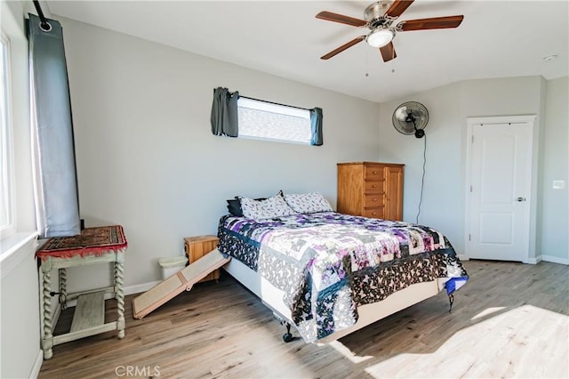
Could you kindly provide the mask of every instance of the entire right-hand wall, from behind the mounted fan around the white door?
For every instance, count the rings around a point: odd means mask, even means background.
[[[444,231],[459,254],[464,254],[465,243],[466,117],[534,114],[537,119],[533,230],[537,237],[532,241],[531,257],[538,260],[541,255],[546,259],[549,256],[565,257],[565,261],[559,262],[569,263],[567,242],[561,240],[567,235],[569,211],[567,206],[554,206],[564,204],[560,198],[565,199],[566,204],[567,191],[550,189],[553,176],[557,175],[560,180],[567,175],[569,118],[566,104],[569,99],[566,83],[566,77],[549,82],[541,77],[478,79],[381,103],[380,159],[405,163],[404,220],[415,222],[418,211],[424,141],[394,129],[391,115],[399,104],[420,101],[429,109],[430,120],[425,130],[426,177],[419,222]],[[547,121],[544,109],[549,109]],[[558,118],[549,116],[550,113]],[[538,148],[546,153],[540,154]],[[549,189],[545,189],[548,186]],[[560,222],[563,220],[565,222]],[[543,238],[539,234],[541,231]]]

